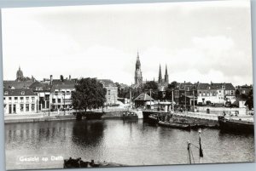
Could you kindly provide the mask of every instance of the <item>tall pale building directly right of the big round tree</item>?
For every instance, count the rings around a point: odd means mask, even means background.
[[[98,79],[98,81],[102,83],[103,88],[107,89],[106,104],[107,105],[117,104],[118,87],[113,83],[112,80],[109,80],[109,79]]]

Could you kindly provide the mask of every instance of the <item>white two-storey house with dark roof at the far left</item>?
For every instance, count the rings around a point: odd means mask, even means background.
[[[31,89],[3,89],[4,114],[37,112],[38,95]]]

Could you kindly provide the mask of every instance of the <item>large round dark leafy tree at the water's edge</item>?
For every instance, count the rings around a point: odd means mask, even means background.
[[[75,84],[75,91],[72,93],[72,105],[76,110],[97,109],[106,101],[106,88],[96,78],[81,78]]]

